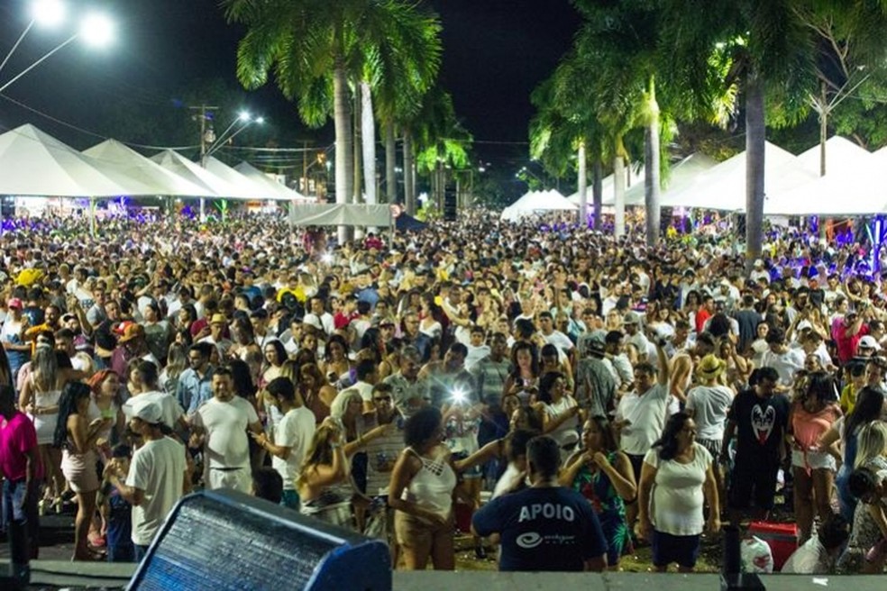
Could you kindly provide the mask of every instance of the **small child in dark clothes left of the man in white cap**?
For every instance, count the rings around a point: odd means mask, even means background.
[[[133,562],[133,505],[130,505],[116,486],[111,475],[125,478],[129,473],[133,450],[119,444],[111,450],[111,459],[105,465],[105,477],[99,488],[96,505],[102,515],[102,530],[107,541],[108,562]]]

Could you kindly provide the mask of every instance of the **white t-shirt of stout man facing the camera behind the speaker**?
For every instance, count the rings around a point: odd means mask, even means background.
[[[210,398],[197,408],[195,422],[206,429],[208,468],[249,468],[250,442],[246,430],[258,423],[252,405],[239,396],[227,402]]]

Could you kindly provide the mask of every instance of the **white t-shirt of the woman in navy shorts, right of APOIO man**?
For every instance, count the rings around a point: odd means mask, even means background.
[[[711,466],[711,454],[699,443],[693,460],[681,464],[659,458],[659,449],[649,450],[645,463],[656,468],[653,495],[650,498],[650,521],[657,532],[675,536],[699,535],[705,526],[702,485]]]

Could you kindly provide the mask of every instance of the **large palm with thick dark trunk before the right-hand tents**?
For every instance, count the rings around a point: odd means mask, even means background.
[[[798,113],[809,95],[813,46],[794,7],[805,0],[663,0],[663,66],[681,80],[701,109],[724,87],[745,96],[745,257],[750,268],[761,255],[764,226],[765,105]],[[733,67],[720,87],[712,84],[710,59],[718,48],[732,53]]]

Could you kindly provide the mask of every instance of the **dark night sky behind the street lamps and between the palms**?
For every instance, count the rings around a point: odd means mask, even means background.
[[[28,4],[0,0],[0,59],[27,24]],[[224,22],[216,0],[68,0],[68,4],[74,14],[106,6],[119,27],[114,47],[90,51],[73,43],[5,95],[103,135],[99,115],[114,101],[137,97],[159,109],[171,108],[170,98],[193,78],[224,77],[235,82],[234,50],[240,32]],[[480,157],[524,157],[526,145],[508,142],[526,142],[533,113],[529,94],[569,48],[578,16],[567,0],[434,0],[432,5],[444,23],[444,86],[453,94],[456,113],[478,141]],[[32,30],[0,72],[0,86],[64,39],[64,32]],[[275,125],[298,125],[294,107],[273,85],[256,94],[254,102],[251,106],[270,113]],[[0,130],[21,123],[33,123],[78,147],[100,141],[0,97]],[[332,137],[329,130],[313,133]]]

